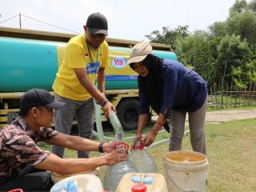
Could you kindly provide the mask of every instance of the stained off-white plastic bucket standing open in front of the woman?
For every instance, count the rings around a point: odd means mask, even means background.
[[[175,150],[164,154],[168,191],[206,191],[208,160],[205,154]]]

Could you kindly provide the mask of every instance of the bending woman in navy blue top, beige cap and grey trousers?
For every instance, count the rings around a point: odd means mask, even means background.
[[[171,127],[169,150],[181,150],[188,114],[192,148],[206,154],[207,83],[182,63],[158,58],[151,51],[149,43],[139,42],[133,47],[127,62],[138,73],[140,105],[134,141],[141,140],[143,146],[150,146],[162,126],[168,132]],[[150,107],[158,114],[158,119],[142,138]]]

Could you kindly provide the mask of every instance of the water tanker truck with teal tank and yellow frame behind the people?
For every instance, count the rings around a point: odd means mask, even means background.
[[[26,90],[42,88],[54,96],[52,84],[62,65],[66,42],[74,35],[0,27],[0,128],[18,116],[19,99]],[[126,62],[138,42],[114,38],[106,38],[106,42],[110,46],[106,94],[124,130],[134,130],[138,125],[138,74]],[[177,60],[170,46],[151,45],[158,57]],[[104,115],[102,121],[106,121]]]

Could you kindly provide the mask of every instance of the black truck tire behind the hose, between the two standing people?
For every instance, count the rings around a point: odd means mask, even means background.
[[[138,127],[138,100],[129,98],[123,100],[117,107],[118,119],[124,130],[137,130]]]

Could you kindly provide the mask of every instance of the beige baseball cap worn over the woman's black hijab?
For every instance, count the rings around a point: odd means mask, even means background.
[[[127,65],[134,62],[142,62],[144,58],[152,51],[152,46],[148,42],[138,42],[133,46],[133,50],[130,53],[130,58],[128,59]]]

